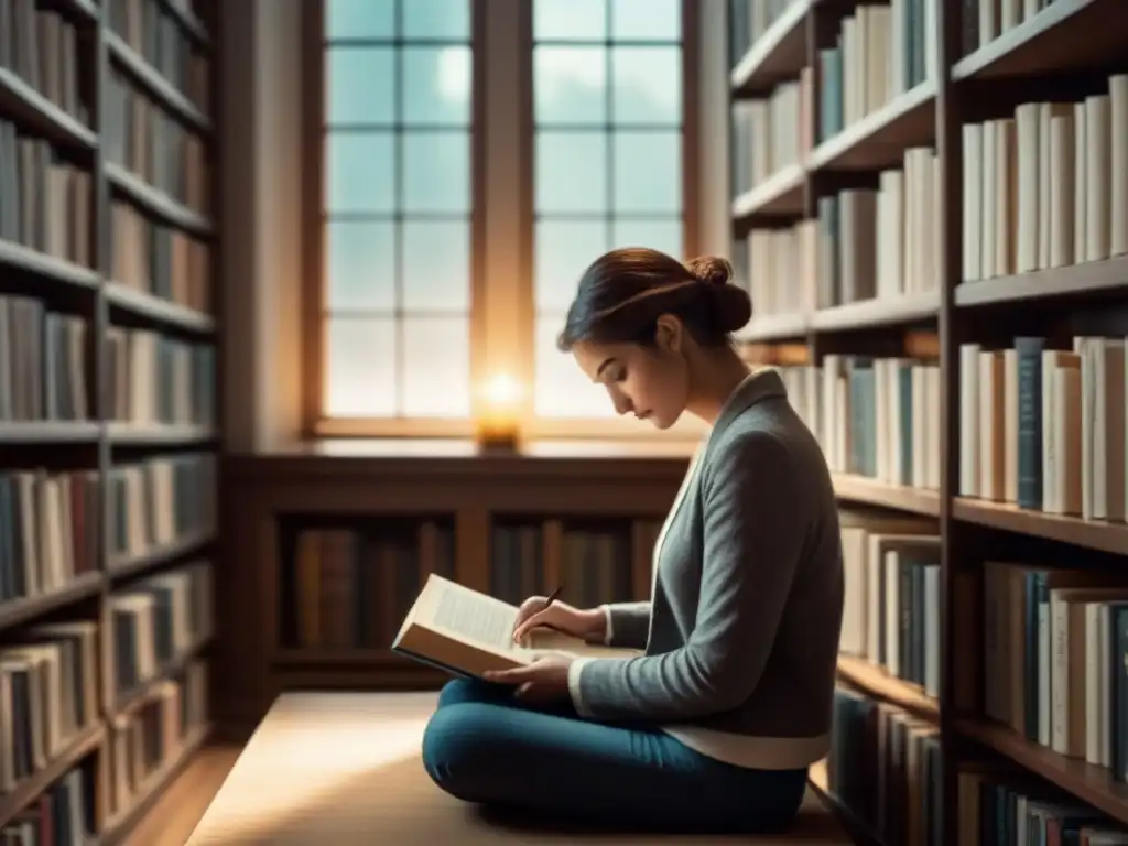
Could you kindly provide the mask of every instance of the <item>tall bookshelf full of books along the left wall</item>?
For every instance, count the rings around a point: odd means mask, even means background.
[[[0,5],[5,841],[123,843],[209,738],[214,21]]]

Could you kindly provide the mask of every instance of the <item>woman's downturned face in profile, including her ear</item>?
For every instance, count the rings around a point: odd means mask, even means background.
[[[654,347],[581,343],[572,354],[588,378],[607,389],[616,413],[669,429],[686,409],[689,395],[682,342],[680,323],[663,317]]]

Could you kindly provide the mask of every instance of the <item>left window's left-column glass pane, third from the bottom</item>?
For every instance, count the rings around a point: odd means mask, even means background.
[[[389,212],[396,205],[390,132],[331,132],[326,138],[329,212]]]

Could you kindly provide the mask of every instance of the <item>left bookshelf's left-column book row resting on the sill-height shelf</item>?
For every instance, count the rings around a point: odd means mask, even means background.
[[[89,417],[88,332],[81,317],[0,294],[0,422]]]

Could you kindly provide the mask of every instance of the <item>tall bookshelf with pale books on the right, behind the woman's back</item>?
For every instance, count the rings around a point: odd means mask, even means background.
[[[890,846],[986,843],[982,820],[1128,830],[1110,716],[1128,9],[732,0],[730,23],[733,256],[757,306],[742,341],[783,371],[844,514],[836,741],[812,783]],[[911,583],[882,580],[897,534],[926,601],[882,609]],[[890,649],[896,618],[933,626],[923,682],[904,636]]]

